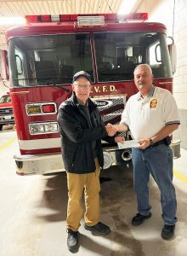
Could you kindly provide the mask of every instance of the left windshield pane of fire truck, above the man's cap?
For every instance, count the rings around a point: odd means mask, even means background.
[[[13,86],[71,84],[79,70],[86,70],[94,82],[88,33],[12,38],[9,59]]]

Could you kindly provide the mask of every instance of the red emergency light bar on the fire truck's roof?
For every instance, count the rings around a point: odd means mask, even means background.
[[[104,26],[105,21],[113,20],[148,20],[147,13],[128,15],[99,14],[99,15],[26,15],[27,23],[77,21],[78,26]]]

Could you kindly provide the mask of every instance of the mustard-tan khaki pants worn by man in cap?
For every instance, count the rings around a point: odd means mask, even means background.
[[[86,174],[75,174],[67,172],[68,186],[68,207],[66,226],[67,229],[77,231],[82,218],[82,192],[84,189],[84,200],[86,212],[84,220],[88,226],[93,226],[99,222],[99,174],[100,166],[95,159],[95,172]]]

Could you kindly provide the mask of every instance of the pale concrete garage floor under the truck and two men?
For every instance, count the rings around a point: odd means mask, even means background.
[[[4,126],[0,132],[0,255],[66,256],[65,217],[67,187],[65,173],[53,176],[20,177],[15,174],[13,155],[18,150],[16,133]],[[187,255],[187,151],[174,160],[174,184],[178,197],[175,238],[163,241],[160,233],[160,195],[150,180],[152,218],[133,227],[136,213],[133,175],[129,168],[102,172],[111,181],[101,184],[101,221],[111,226],[109,236],[93,236],[80,228],[77,255],[186,256]]]

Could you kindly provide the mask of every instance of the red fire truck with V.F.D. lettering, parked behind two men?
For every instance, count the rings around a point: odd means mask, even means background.
[[[127,99],[137,92],[133,70],[140,63],[150,64],[156,86],[173,90],[166,27],[144,22],[147,14],[31,15],[26,20],[6,32],[20,175],[64,171],[56,117],[60,103],[71,96],[74,73],[91,75],[91,97],[105,123],[118,123]],[[128,132],[126,139],[132,139]],[[105,168],[131,160],[131,148],[103,143],[103,149]]]

